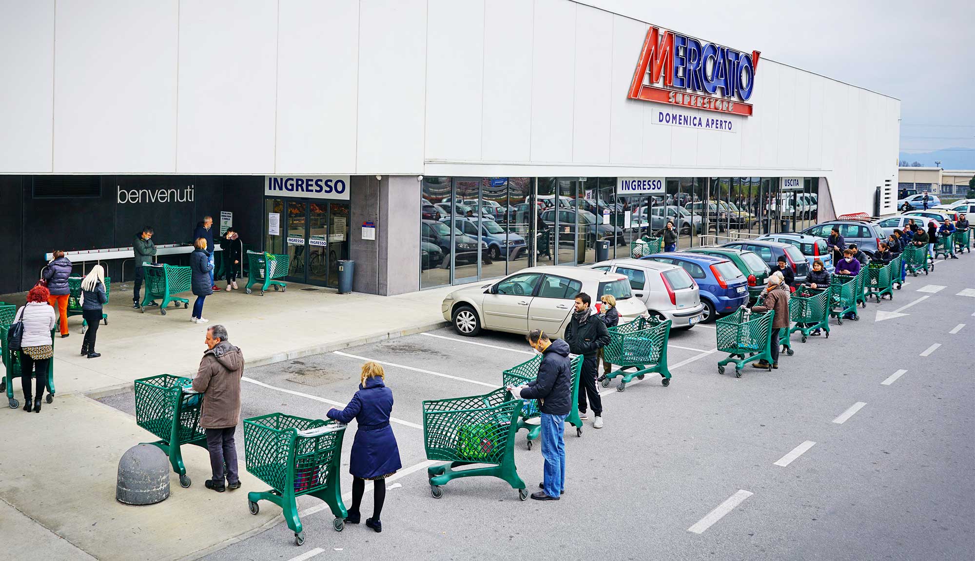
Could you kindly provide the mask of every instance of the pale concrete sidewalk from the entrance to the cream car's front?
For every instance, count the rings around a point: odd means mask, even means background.
[[[222,286],[224,283],[220,283]],[[285,293],[270,291],[218,292],[207,297],[203,317],[208,325],[227,328],[240,346],[248,366],[328,352],[372,341],[393,339],[444,325],[441,302],[445,287],[394,297],[353,293],[290,284]],[[80,356],[81,316],[68,318],[71,335],[55,341],[55,382],[59,394],[83,392],[94,397],[131,387],[132,381],[158,374],[196,373],[206,350],[206,326],[189,321],[190,308],[173,307],[164,316],[159,308],[139,313],[132,307],[132,284],[113,284],[105,306],[108,325],[98,329],[101,356]],[[21,304],[24,295],[0,296]],[[20,400],[20,381],[15,381]]]

